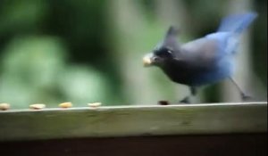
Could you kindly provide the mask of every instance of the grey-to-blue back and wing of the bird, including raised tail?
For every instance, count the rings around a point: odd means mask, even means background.
[[[186,55],[193,55],[202,61],[234,54],[239,45],[239,34],[247,29],[256,16],[255,12],[227,16],[222,19],[217,32],[182,45],[182,49]]]

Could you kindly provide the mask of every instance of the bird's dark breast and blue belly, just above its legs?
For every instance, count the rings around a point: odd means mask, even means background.
[[[209,68],[188,63],[167,63],[162,70],[173,82],[187,86],[203,86],[230,77],[233,64],[229,59],[216,62]]]

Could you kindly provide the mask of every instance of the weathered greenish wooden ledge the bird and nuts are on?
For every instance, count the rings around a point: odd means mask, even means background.
[[[267,102],[0,111],[0,141],[267,132]]]

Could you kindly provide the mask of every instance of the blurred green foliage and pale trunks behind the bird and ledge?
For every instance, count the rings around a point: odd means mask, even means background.
[[[141,58],[173,24],[180,41],[214,32],[233,12],[259,17],[242,37],[235,78],[266,101],[266,0],[1,0],[0,103],[72,102],[75,106],[178,102],[186,86],[172,83]],[[228,81],[200,89],[197,103],[238,102]]]

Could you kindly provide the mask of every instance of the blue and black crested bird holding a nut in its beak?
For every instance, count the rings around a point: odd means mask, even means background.
[[[256,12],[227,15],[216,31],[183,44],[177,41],[179,29],[170,26],[163,40],[151,53],[144,55],[143,65],[158,67],[173,82],[188,86],[190,94],[180,103],[190,103],[189,99],[197,95],[198,87],[224,79],[230,79],[243,101],[250,99],[233,74],[240,36],[257,16]]]

